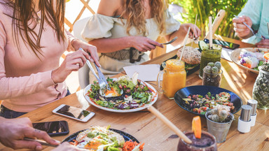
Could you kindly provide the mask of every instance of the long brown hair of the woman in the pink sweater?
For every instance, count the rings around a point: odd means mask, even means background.
[[[19,34],[22,36],[23,42],[29,45],[36,57],[40,59],[39,55],[43,55],[41,51],[43,47],[40,45],[40,41],[45,21],[55,30],[57,41],[64,41],[66,38],[64,36],[64,0],[39,0],[39,8],[41,10],[40,24],[33,20],[38,16],[34,10],[33,0],[6,0],[4,4],[13,9],[12,15],[6,15],[12,17],[13,40],[15,40],[18,46],[20,55],[22,55],[22,52],[18,39]],[[32,28],[28,26],[31,22],[34,23]],[[36,26],[40,26],[39,33],[34,31]]]

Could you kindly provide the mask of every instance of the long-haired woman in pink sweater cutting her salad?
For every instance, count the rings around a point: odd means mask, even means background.
[[[66,96],[64,80],[86,59],[99,66],[95,46],[64,30],[64,3],[0,0],[1,116],[18,117]],[[69,44],[85,52],[73,52],[59,65]]]

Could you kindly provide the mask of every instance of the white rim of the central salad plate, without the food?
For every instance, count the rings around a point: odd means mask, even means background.
[[[139,107],[139,108],[125,109],[125,110],[114,110],[112,108],[106,108],[106,107],[103,107],[103,106],[99,106],[97,103],[95,103],[95,101],[91,101],[90,100],[90,97],[88,95],[86,95],[88,93],[88,90],[90,89],[90,87],[91,87],[92,84],[90,84],[87,87],[85,87],[84,92],[83,92],[83,95],[84,95],[85,99],[90,104],[92,104],[92,106],[95,106],[97,108],[101,108],[102,110],[107,110],[107,111],[116,112],[116,113],[136,112],[138,110],[144,110],[145,108],[153,105],[153,103],[155,103],[157,101],[157,99],[158,99],[158,93],[157,93],[156,89],[153,86],[149,85],[149,83],[147,83],[147,82],[144,82],[144,84],[147,85],[152,90],[151,103],[146,104],[145,106],[142,106],[142,107]]]

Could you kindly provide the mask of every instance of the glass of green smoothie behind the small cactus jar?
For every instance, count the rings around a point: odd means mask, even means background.
[[[221,61],[221,50],[222,50],[221,45],[213,44],[211,49],[209,49],[209,44],[207,45],[208,49],[202,50],[201,54],[200,71],[199,71],[200,78],[202,78],[203,69],[205,68],[205,66],[207,66],[209,62],[215,63]]]

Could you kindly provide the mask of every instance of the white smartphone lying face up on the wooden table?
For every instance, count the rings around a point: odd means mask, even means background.
[[[53,110],[53,113],[57,115],[62,115],[64,117],[69,117],[73,120],[80,122],[88,122],[90,118],[95,115],[95,113],[88,110],[82,110],[81,108],[76,108],[74,106],[67,106],[62,104]]]

